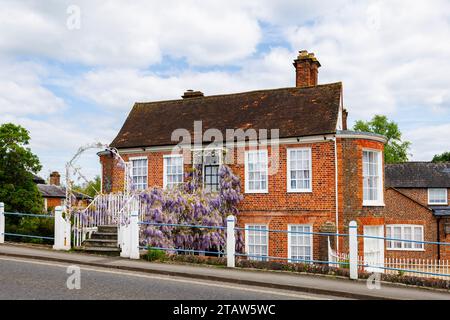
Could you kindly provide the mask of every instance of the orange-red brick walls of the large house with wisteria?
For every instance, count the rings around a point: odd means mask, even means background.
[[[287,148],[309,147],[312,156],[312,192],[287,192]],[[335,143],[323,141],[309,144],[290,144],[279,146],[278,172],[269,175],[266,194],[245,193],[245,166],[244,150],[238,149],[234,154],[234,164],[230,167],[241,178],[244,200],[239,209],[238,226],[244,227],[248,223],[267,224],[269,229],[287,230],[288,224],[309,224],[314,231],[321,230],[326,223],[334,225],[336,216],[336,189],[335,189]],[[348,223],[356,219],[362,228],[363,224],[384,224],[379,219],[383,208],[362,207],[362,150],[371,148],[383,150],[383,144],[364,139],[338,139],[338,181],[339,181],[339,229],[347,232]],[[248,149],[248,148],[247,148]],[[272,149],[267,147],[269,161]],[[162,186],[163,183],[163,155],[165,152],[146,152],[142,154],[123,155],[124,160],[129,157],[148,157],[148,185]],[[123,188],[123,170],[112,165],[112,159],[102,156],[103,174],[105,180],[110,175],[112,191]],[[185,165],[185,170],[191,165]],[[105,189],[105,183],[104,183]],[[314,258],[319,257],[319,242],[323,247],[325,237],[314,236]],[[285,233],[272,233],[269,242],[269,255],[287,257],[287,235]]]

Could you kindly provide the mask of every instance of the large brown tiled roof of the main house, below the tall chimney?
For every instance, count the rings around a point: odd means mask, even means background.
[[[279,129],[280,138],[336,132],[342,84],[281,88],[179,100],[136,103],[111,143],[116,148],[174,145],[172,132]],[[192,140],[193,141],[193,140]],[[204,141],[207,142],[207,141]]]

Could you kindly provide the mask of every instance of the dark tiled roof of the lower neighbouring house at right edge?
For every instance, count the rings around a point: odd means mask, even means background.
[[[405,162],[385,166],[386,186],[450,188],[450,162]]]

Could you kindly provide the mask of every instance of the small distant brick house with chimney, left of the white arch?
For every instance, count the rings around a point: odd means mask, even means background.
[[[44,198],[45,212],[53,212],[55,207],[64,206],[66,201],[66,188],[61,186],[61,176],[57,171],[50,174],[49,183],[39,176],[34,176],[33,181],[37,184],[39,192]],[[74,192],[76,200],[74,204],[85,207],[92,198],[80,192]]]

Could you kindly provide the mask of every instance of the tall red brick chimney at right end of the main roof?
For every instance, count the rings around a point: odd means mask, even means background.
[[[296,87],[303,88],[317,85],[320,62],[314,56],[314,53],[308,53],[307,50],[299,51],[297,59],[294,60],[294,67]]]

